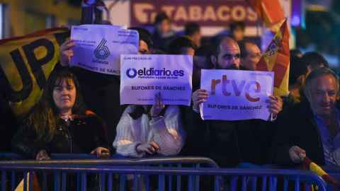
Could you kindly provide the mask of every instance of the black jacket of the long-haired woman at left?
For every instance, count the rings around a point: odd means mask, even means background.
[[[69,127],[64,120],[57,122],[57,134],[50,141],[39,141],[33,125],[27,117],[13,137],[11,147],[16,154],[35,159],[38,151],[49,154],[90,154],[98,146],[108,149],[106,130],[97,115],[74,117]]]

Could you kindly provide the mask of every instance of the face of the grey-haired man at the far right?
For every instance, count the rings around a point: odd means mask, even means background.
[[[305,90],[310,107],[320,117],[329,117],[334,111],[337,88],[334,76],[323,75],[314,78]]]

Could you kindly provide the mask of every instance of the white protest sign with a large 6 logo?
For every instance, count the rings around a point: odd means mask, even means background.
[[[103,74],[120,75],[120,54],[137,54],[139,35],[114,25],[72,26],[71,47],[74,56],[70,66],[79,66]]]

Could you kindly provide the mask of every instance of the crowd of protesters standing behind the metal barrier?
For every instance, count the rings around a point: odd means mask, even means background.
[[[202,45],[197,23],[188,23],[185,35],[177,35],[165,13],[156,16],[154,33],[130,29],[140,35],[138,54],[193,55],[190,107],[164,105],[160,94],[155,95],[154,105],[120,105],[119,77],[69,67],[73,56],[69,48],[76,44],[67,40],[41,100],[19,124],[11,150],[2,151],[37,160],[49,159],[54,152],[107,158],[109,150],[132,157],[206,156],[223,168],[239,163],[297,168],[302,164],[299,155],[307,154],[318,165],[339,166],[339,77],[321,54],[290,51],[289,93],[268,96],[272,116],[267,121],[202,120],[200,103],[209,95],[200,89],[201,69],[256,70],[261,51],[244,37],[244,24],[232,23],[229,37]],[[86,112],[85,105],[93,112]],[[1,120],[1,126],[13,122]]]

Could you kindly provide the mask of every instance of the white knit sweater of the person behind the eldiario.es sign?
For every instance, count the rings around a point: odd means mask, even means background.
[[[179,106],[169,105],[164,117],[160,117],[157,122],[149,120],[147,114],[133,120],[128,113],[131,113],[135,107],[135,105],[128,106],[118,123],[117,136],[113,141],[117,154],[133,157],[145,156],[145,152],[137,153],[137,146],[147,141],[155,141],[159,145],[161,148],[157,151],[159,154],[164,156],[179,154],[186,138]]]

